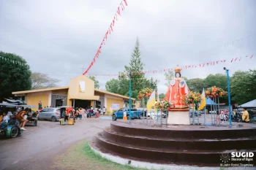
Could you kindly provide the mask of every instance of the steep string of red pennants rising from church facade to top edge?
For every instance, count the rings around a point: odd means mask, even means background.
[[[113,20],[110,22],[110,26],[108,27],[108,30],[106,31],[105,36],[103,37],[102,42],[99,45],[97,53],[94,55],[93,61],[91,61],[90,66],[88,67],[88,69],[86,69],[86,72],[84,72],[83,75],[87,74],[89,72],[89,70],[91,69],[91,67],[94,66],[96,59],[99,58],[99,53],[101,53],[102,45],[105,45],[105,42],[108,39],[108,34],[111,34],[111,32],[113,32],[113,27],[115,26],[115,23],[118,20],[118,18],[121,16],[121,11],[124,11],[124,6],[127,6],[127,5],[128,5],[127,0],[122,0],[121,3],[119,4],[116,14],[115,14]]]

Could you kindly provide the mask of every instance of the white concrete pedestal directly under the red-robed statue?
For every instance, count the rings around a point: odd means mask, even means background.
[[[189,111],[170,111],[167,123],[172,125],[190,125]]]

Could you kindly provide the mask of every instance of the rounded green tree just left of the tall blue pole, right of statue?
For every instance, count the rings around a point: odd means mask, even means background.
[[[204,80],[204,83],[206,88],[210,88],[215,85],[218,88],[227,90],[227,77],[224,74],[209,74]]]

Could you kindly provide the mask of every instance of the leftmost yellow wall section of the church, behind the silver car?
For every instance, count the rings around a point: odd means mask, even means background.
[[[32,95],[27,95],[26,96],[26,104],[29,105],[34,105],[38,109],[38,103],[39,101],[42,102],[42,108],[48,106],[48,100],[49,100],[49,95],[37,95],[37,96],[32,96]]]

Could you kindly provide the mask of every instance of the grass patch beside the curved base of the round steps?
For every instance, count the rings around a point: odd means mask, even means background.
[[[144,170],[133,168],[132,166],[124,166],[106,158],[91,150],[88,142],[79,142],[72,147],[69,147],[63,154],[53,158],[53,166],[51,169],[55,170]],[[146,170],[146,169],[145,169]]]

